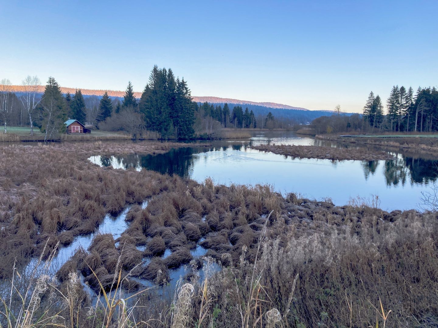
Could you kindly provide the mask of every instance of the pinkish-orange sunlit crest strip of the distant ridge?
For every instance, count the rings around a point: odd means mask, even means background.
[[[21,85],[13,85],[11,86],[12,92],[24,92],[24,87]],[[43,93],[45,86],[40,86],[38,91]],[[60,87],[61,92],[66,94],[67,92],[70,92],[71,94],[74,94],[76,92],[76,89],[80,88],[70,88],[70,87]],[[92,90],[92,89],[81,89],[81,92],[83,95],[86,96],[102,96],[104,92],[107,91],[109,97],[123,97],[125,94],[125,91],[116,91],[116,90]],[[136,98],[141,97],[141,92],[134,92],[134,96]],[[239,100],[239,99],[233,99],[233,98],[220,98],[220,97],[197,97],[192,96],[193,101],[196,102],[209,102],[209,103],[228,103],[228,104],[234,104],[234,105],[258,105],[263,107],[270,107],[270,108],[284,108],[284,109],[297,109],[301,111],[308,111],[307,108],[302,107],[294,107],[289,105],[283,105],[278,104],[276,102],[257,102],[257,101],[249,101],[249,100]]]

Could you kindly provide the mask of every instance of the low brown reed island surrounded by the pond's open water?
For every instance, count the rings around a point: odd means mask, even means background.
[[[294,146],[294,145],[261,145],[252,146],[251,148],[269,151],[274,154],[280,154],[298,158],[318,158],[332,161],[357,160],[357,161],[378,161],[392,160],[394,157],[388,152],[378,150],[368,150],[364,148],[347,149],[335,147],[318,147],[318,146]]]

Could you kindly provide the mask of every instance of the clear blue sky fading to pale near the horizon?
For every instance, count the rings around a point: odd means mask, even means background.
[[[194,96],[362,112],[438,84],[438,0],[0,0],[0,80],[142,91],[153,65]]]

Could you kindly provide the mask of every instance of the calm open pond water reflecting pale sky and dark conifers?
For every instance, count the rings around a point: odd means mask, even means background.
[[[101,166],[137,170],[147,168],[203,181],[229,185],[270,184],[286,194],[296,192],[310,199],[329,197],[336,205],[351,198],[378,195],[383,209],[419,208],[421,192],[429,191],[438,177],[438,160],[424,155],[392,152],[391,161],[330,161],[297,159],[253,150],[259,144],[293,144],[357,147],[325,143],[292,132],[257,133],[250,140],[218,141],[212,147],[184,147],[166,154],[93,156]]]

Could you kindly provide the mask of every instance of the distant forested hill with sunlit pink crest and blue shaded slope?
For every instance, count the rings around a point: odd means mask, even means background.
[[[22,86],[16,85],[12,86],[13,91],[17,94],[20,94],[23,90]],[[41,94],[44,91],[44,86],[41,86]],[[75,88],[68,88],[68,87],[61,87],[61,92],[66,94],[67,92],[70,92],[71,94],[74,94],[76,91]],[[98,96],[99,98],[102,97],[102,94],[105,92],[105,90],[90,90],[90,89],[81,89],[82,94],[86,98],[87,96]],[[113,91],[109,90],[107,91],[109,97],[112,98],[120,98],[120,100],[123,98],[125,91]],[[136,98],[141,97],[141,92],[134,92],[134,96]],[[294,107],[290,105],[283,105],[283,104],[277,104],[274,102],[255,102],[255,101],[245,101],[245,100],[238,100],[238,99],[230,99],[230,98],[219,98],[219,97],[196,97],[193,96],[193,101],[197,102],[198,104],[208,102],[212,105],[220,105],[223,107],[225,103],[228,103],[231,108],[233,108],[234,105],[239,105],[245,109],[246,107],[251,111],[254,112],[255,115],[262,115],[266,116],[268,112],[271,112],[274,117],[277,118],[285,118],[285,119],[293,119],[294,121],[298,123],[307,123],[311,122],[313,119],[316,119],[320,116],[326,116],[331,115],[331,111],[313,111],[308,110],[306,108],[301,107]],[[349,115],[346,113],[346,115]]]

